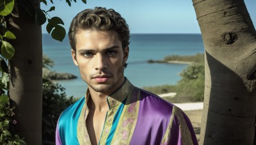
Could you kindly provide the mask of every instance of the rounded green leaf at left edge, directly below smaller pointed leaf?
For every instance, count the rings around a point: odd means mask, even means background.
[[[15,52],[15,50],[14,50],[13,46],[8,42],[3,41],[3,44],[1,46],[1,54],[3,55],[3,57],[10,60],[10,59],[12,59],[14,52]]]

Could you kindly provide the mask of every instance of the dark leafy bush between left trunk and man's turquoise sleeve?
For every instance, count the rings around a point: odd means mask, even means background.
[[[43,79],[43,120],[42,134],[44,144],[54,144],[55,128],[61,112],[76,100],[67,97],[65,88],[50,79]]]

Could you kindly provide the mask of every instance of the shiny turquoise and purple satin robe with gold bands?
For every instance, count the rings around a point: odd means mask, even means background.
[[[61,113],[56,144],[91,144],[86,128],[86,97]],[[191,122],[177,106],[127,79],[107,97],[109,111],[99,144],[198,144]]]

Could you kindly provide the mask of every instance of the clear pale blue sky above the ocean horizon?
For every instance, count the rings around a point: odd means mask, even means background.
[[[253,24],[256,26],[256,1],[244,0]],[[125,18],[131,33],[200,33],[196,21],[195,10],[191,0],[87,0],[87,4],[77,0],[69,7],[65,0],[48,1],[47,6],[41,3],[42,10],[49,10],[56,6],[55,11],[49,12],[51,17],[58,16],[65,23],[68,30],[72,18],[77,13],[86,9],[102,6],[113,8]],[[42,26],[42,32],[47,33],[46,25]]]

